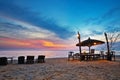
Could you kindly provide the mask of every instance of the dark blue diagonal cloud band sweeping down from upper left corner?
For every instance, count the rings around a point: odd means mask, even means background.
[[[74,34],[74,32],[69,31],[69,29],[57,25],[56,22],[49,20],[40,14],[38,15],[38,13],[33,12],[30,9],[21,8],[12,1],[0,1],[0,6],[0,15],[49,30],[60,38],[69,38]]]

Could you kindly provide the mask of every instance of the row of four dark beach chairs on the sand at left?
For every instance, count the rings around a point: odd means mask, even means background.
[[[45,55],[39,55],[38,58],[35,60],[34,56],[19,56],[18,57],[18,64],[34,64],[34,63],[45,63]],[[0,65],[7,65],[8,58],[7,57],[0,57]]]

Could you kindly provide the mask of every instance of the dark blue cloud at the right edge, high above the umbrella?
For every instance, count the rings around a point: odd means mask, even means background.
[[[120,20],[119,14],[120,14],[120,7],[112,8],[108,12],[104,13],[103,15],[100,15],[100,17],[95,17],[95,18],[91,17],[91,18],[85,20],[85,23],[87,23],[87,24],[107,23],[108,24],[109,22],[114,22],[114,24],[115,24],[115,23],[117,23],[117,21]]]

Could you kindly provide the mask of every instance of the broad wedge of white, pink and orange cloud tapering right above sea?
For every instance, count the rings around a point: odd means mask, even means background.
[[[0,50],[66,50],[71,48],[67,40],[59,38],[53,32],[19,21],[12,22],[0,22]]]

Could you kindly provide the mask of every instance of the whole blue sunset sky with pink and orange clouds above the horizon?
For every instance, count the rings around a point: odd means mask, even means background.
[[[120,0],[0,0],[0,50],[77,50],[78,31],[119,32]]]

